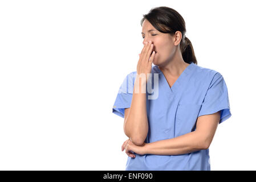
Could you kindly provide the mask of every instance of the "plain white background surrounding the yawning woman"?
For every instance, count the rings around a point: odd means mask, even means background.
[[[254,1],[1,1],[0,169],[124,170],[119,86],[136,71],[140,20],[177,10],[198,65],[224,76],[232,116],[212,170],[255,170]]]

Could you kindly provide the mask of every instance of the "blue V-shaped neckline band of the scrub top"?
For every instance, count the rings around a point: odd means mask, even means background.
[[[156,65],[157,70],[159,71],[159,76],[161,77],[160,79],[163,81],[163,85],[165,90],[168,91],[168,94],[173,94],[174,92],[176,92],[176,90],[178,90],[178,88],[180,87],[180,85],[182,84],[182,80],[183,78],[185,78],[186,75],[188,75],[189,71],[191,70],[192,66],[194,65],[194,63],[190,63],[185,69],[184,71],[181,73],[181,75],[177,78],[177,80],[174,82],[174,84],[172,86],[170,86],[168,84],[168,81],[166,80],[164,73],[162,73],[161,69],[159,69],[159,67]]]

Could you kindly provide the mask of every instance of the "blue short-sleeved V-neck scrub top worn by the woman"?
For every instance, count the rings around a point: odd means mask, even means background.
[[[154,77],[159,76],[159,93],[156,99],[148,99],[154,93],[146,90],[149,130],[145,143],[190,133],[196,130],[196,121],[201,115],[221,111],[220,123],[231,117],[227,86],[219,72],[191,63],[171,88],[159,67],[153,65],[151,73],[152,85]],[[122,118],[124,109],[131,106],[135,78],[136,71],[125,77],[113,105],[112,113]],[[182,155],[135,155],[135,158],[128,156],[125,170],[210,171],[209,148]]]

